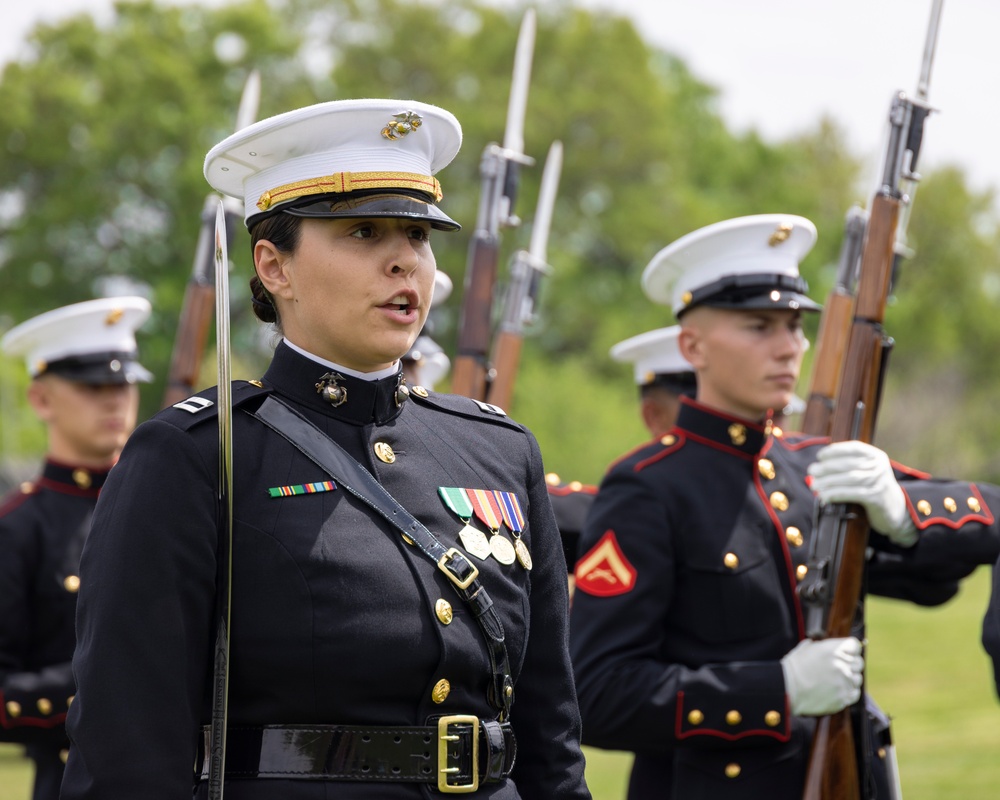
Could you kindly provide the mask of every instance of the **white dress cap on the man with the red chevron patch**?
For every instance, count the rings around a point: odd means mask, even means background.
[[[653,256],[642,288],[675,315],[696,305],[816,310],[799,274],[799,262],[815,243],[816,226],[805,217],[757,214],[724,220],[682,236]]]

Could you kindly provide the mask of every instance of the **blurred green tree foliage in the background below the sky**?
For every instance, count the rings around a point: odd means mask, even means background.
[[[262,75],[261,116],[377,96],[456,114],[465,141],[441,175],[443,205],[465,229],[436,235],[434,245],[439,267],[461,287],[480,156],[503,135],[522,14],[474,0],[119,2],[106,26],[86,15],[40,25],[33,52],[0,77],[0,330],[102,293],[148,295],[155,312],[140,346],[158,382],[144,394],[143,416],[155,412],[208,192],[202,161],[231,131],[252,69]],[[525,130],[537,163],[522,170],[524,224],[503,231],[504,263],[527,246],[541,164],[556,139],[565,159],[553,272],[510,411],[535,431],[550,469],[596,482],[645,435],[631,371],[612,363],[608,349],[673,321],[640,289],[650,257],[727,217],[802,214],[820,232],[802,269],[822,298],[844,214],[865,203],[868,190],[859,187],[870,176],[834,120],[777,144],[731,132],[716,89],[682,61],[645,42],[627,19],[568,0],[538,11]],[[888,315],[899,344],[880,443],[932,470],[997,480],[1000,430],[988,402],[1000,341],[994,198],[974,193],[960,171],[932,173],[910,231],[916,255]],[[238,377],[259,375],[268,352],[248,310],[248,242],[240,230],[229,247]],[[434,335],[448,352],[460,302],[457,288],[435,312]],[[213,362],[206,353],[204,385],[214,382]],[[0,377],[9,388],[9,369]],[[23,407],[4,412],[5,426],[30,431],[29,420]],[[3,446],[20,455],[38,437],[6,436]]]

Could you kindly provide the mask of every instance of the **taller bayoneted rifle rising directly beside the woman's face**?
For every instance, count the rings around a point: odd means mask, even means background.
[[[535,10],[524,12],[514,54],[514,75],[507,106],[503,147],[488,144],[479,164],[481,189],[476,230],[469,242],[463,285],[462,312],[451,389],[475,400],[485,400],[491,378],[487,354],[493,316],[493,285],[500,253],[500,228],[520,224],[514,201],[520,165],[534,164],[524,155],[524,113],[535,46]]]

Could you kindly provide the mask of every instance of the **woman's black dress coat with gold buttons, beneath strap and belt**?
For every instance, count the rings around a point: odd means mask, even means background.
[[[261,388],[234,389],[229,724],[412,726],[441,715],[496,717],[483,636],[441,570],[340,486],[270,495],[329,477],[249,415],[274,392],[364,464],[446,547],[461,547],[462,523],[438,487],[516,493],[534,569],[472,560],[506,632],[517,759],[510,779],[469,796],[589,797],[568,658],[565,563],[534,437],[467,398],[415,391],[397,405],[396,376],[344,379],[347,401],[334,408],[315,388],[328,371],[282,344]],[[175,800],[190,797],[193,785],[195,796],[205,795],[192,764],[209,721],[218,433],[214,408],[201,409],[214,391],[200,397],[139,426],[102,493],[82,565],[65,800]],[[383,455],[388,445],[394,461],[379,460],[376,445]],[[439,795],[416,783],[236,778],[226,780],[225,796]]]

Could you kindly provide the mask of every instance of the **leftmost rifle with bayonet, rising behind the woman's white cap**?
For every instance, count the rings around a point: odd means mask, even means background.
[[[260,74],[253,70],[243,86],[240,107],[236,115],[236,130],[244,128],[257,117],[260,100]],[[232,239],[237,224],[243,219],[238,200],[223,200],[226,211],[226,234]],[[201,372],[202,357],[208,342],[208,329],[215,311],[215,213],[219,197],[210,194],[205,198],[201,212],[201,229],[194,251],[191,277],[184,290],[177,334],[170,356],[170,371],[161,408],[167,408],[190,397]]]

